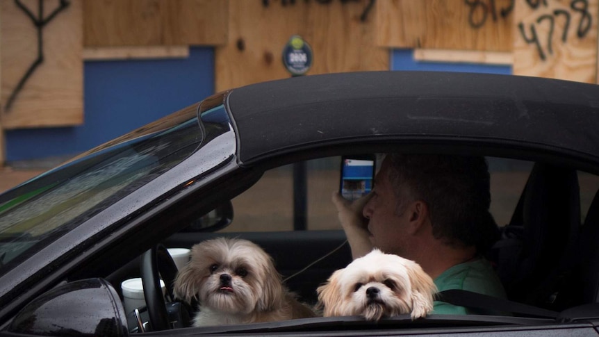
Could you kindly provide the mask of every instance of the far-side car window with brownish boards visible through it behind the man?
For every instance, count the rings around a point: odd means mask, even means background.
[[[331,193],[338,189],[339,156],[306,162],[307,229],[340,229]],[[499,226],[509,223],[533,163],[487,158],[491,174],[491,213]],[[233,223],[224,231],[292,231],[293,165],[265,172],[256,185],[233,199]]]

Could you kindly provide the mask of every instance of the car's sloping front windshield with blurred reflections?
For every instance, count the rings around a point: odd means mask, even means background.
[[[190,106],[1,195],[0,274],[181,163],[203,135]]]

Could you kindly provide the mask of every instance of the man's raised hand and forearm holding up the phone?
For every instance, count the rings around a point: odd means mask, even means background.
[[[332,199],[337,208],[337,217],[350,243],[354,259],[368,254],[374,248],[370,243],[370,232],[367,229],[368,219],[362,215],[364,205],[370,197],[372,195],[366,195],[351,202],[342,197],[339,192],[333,193]]]

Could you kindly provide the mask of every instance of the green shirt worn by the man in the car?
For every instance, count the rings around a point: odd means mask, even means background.
[[[506,298],[505,290],[493,266],[485,258],[454,265],[434,279],[439,291],[449,289],[469,290],[493,297]],[[479,313],[463,306],[435,301],[433,313],[466,315]]]

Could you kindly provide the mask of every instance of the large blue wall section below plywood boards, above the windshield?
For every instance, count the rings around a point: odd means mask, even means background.
[[[214,51],[184,59],[89,61],[82,126],[6,131],[6,161],[78,154],[214,92]]]

